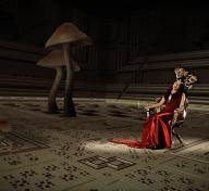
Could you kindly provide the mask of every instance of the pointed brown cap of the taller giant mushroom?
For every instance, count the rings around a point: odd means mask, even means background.
[[[53,48],[63,43],[73,43],[75,46],[91,44],[91,39],[81,31],[73,23],[64,23],[56,29],[52,36],[47,40],[45,48]]]

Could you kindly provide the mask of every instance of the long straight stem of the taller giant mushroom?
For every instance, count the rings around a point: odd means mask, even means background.
[[[64,115],[75,117],[75,107],[73,103],[73,61],[70,56],[70,46],[63,44],[64,61],[66,64],[66,79],[65,79],[65,92],[64,92]]]

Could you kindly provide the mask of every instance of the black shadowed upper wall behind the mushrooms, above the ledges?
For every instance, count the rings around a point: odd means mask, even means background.
[[[94,40],[94,46],[75,52],[83,68],[78,78],[107,82],[137,58],[146,61],[155,54],[209,49],[207,7],[85,5],[64,0],[0,0],[0,40],[44,48],[58,26],[73,22]],[[133,75],[124,76],[133,81]]]

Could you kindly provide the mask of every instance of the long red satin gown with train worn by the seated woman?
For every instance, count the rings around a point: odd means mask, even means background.
[[[164,94],[165,109],[163,112],[149,116],[143,127],[142,140],[121,139],[111,141],[113,143],[126,144],[138,149],[163,149],[171,148],[172,119],[174,110],[180,107],[182,92],[176,92],[169,101],[169,90]]]

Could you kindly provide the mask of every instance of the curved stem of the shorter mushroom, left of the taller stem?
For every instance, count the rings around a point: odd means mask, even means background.
[[[59,88],[61,80],[62,80],[62,74],[63,74],[63,68],[61,66],[57,67],[56,68],[56,79],[53,81],[53,86],[51,87],[51,90],[49,93],[49,101],[48,101],[48,112],[50,114],[60,113],[58,105],[57,105],[57,102],[56,102],[56,97],[58,93],[58,88]]]

